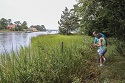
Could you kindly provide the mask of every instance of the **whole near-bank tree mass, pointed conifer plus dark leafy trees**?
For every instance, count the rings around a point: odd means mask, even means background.
[[[125,38],[125,0],[77,0],[73,9],[65,8],[58,23],[62,34],[79,29],[92,35],[98,30],[107,36]]]

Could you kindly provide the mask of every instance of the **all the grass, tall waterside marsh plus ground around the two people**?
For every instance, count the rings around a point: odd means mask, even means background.
[[[109,39],[107,62],[100,68],[93,38],[83,35],[42,35],[29,47],[0,57],[2,83],[120,83],[124,56]],[[120,66],[123,65],[123,66]]]

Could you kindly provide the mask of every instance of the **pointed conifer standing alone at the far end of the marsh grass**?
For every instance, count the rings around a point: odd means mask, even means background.
[[[70,34],[72,30],[78,28],[78,17],[73,10],[69,10],[67,7],[61,15],[60,21],[58,21],[59,31],[62,34]]]

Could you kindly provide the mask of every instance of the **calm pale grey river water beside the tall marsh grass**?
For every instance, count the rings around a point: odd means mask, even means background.
[[[52,32],[49,34],[55,34],[56,32]],[[31,37],[36,37],[38,35],[48,34],[47,32],[0,32],[0,54],[8,53],[12,50],[19,50],[20,46],[29,46],[31,42]]]

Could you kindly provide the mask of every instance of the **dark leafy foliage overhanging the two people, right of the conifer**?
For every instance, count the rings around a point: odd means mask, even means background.
[[[74,6],[81,18],[81,28],[86,34],[98,30],[109,36],[125,36],[125,1],[124,0],[79,0]]]

